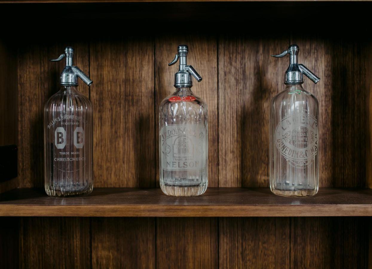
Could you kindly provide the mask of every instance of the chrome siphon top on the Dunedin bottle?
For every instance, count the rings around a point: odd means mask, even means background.
[[[284,75],[284,84],[302,84],[304,83],[303,74],[312,80],[315,84],[320,78],[315,76],[305,65],[297,63],[297,55],[299,48],[297,45],[291,45],[288,49],[278,55],[271,55],[272,57],[284,57],[289,54],[289,67]]]

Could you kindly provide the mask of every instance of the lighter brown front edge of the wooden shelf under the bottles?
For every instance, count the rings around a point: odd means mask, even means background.
[[[372,205],[1,205],[0,217],[358,217]]]

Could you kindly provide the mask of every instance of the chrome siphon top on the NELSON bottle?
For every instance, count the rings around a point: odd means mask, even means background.
[[[176,74],[174,74],[174,87],[181,88],[181,87],[192,87],[192,81],[190,74],[195,77],[195,79],[200,82],[202,81],[202,77],[195,71],[195,69],[191,65],[187,65],[186,57],[189,48],[186,45],[179,45],[178,46],[178,53],[174,57],[173,61],[168,65],[173,65],[177,63],[178,59],[180,59],[179,70]]]

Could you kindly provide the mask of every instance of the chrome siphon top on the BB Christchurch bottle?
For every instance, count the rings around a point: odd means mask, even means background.
[[[51,60],[52,62],[58,62],[66,57],[66,66],[61,73],[61,85],[78,86],[78,77],[80,77],[80,79],[83,80],[88,86],[92,85],[93,81],[77,66],[73,65],[73,55],[74,49],[72,47],[66,47],[65,53],[62,53],[57,59]]]

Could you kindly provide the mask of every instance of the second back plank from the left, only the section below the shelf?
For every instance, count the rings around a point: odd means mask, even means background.
[[[92,268],[155,268],[155,219],[92,218]]]

